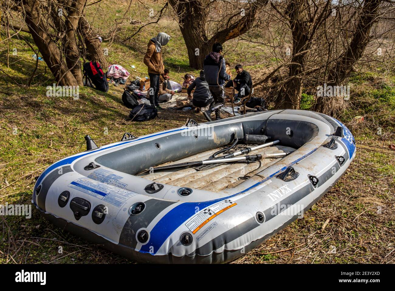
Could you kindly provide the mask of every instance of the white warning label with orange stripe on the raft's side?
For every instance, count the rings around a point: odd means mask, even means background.
[[[237,203],[231,200],[218,202],[194,215],[185,225],[190,231],[192,231],[193,234],[196,234],[196,232],[198,232],[200,228],[211,221],[211,219],[235,205],[237,205]]]

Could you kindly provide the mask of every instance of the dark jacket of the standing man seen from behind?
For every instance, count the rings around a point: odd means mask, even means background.
[[[225,59],[222,56],[220,56],[219,59],[213,59],[213,54],[216,53],[211,52],[204,59],[204,74],[209,86],[223,86],[225,84],[225,81],[228,81],[230,79],[230,76],[226,74]],[[220,71],[219,76],[218,71]]]

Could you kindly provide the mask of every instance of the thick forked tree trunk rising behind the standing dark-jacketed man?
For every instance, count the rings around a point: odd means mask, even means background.
[[[204,58],[215,42],[224,43],[251,29],[258,11],[267,3],[268,0],[169,0],[184,37],[190,67],[203,68]],[[210,13],[213,10],[215,13]]]

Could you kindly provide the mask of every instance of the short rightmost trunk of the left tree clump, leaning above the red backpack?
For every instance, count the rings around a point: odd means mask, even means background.
[[[84,38],[85,46],[87,47],[88,59],[99,62],[103,69],[107,69],[108,62],[103,53],[100,40],[93,33],[92,29],[90,29],[90,25],[84,16],[79,20],[79,30]]]

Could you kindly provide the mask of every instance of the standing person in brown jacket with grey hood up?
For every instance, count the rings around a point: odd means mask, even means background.
[[[147,53],[144,56],[144,64],[148,67],[148,76],[150,80],[149,100],[156,109],[162,109],[158,103],[159,78],[164,73],[165,65],[162,58],[162,46],[166,46],[170,36],[164,32],[159,32],[148,42]]]

